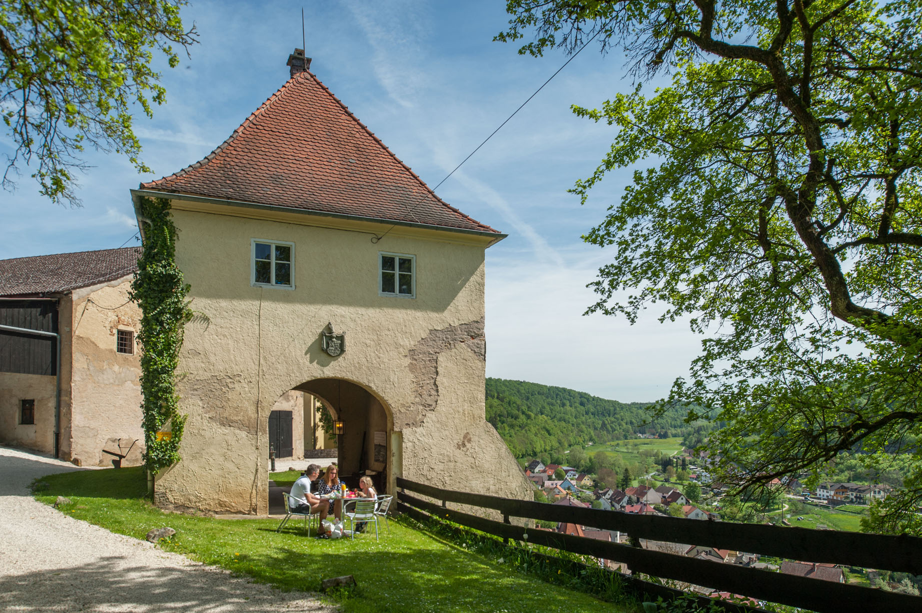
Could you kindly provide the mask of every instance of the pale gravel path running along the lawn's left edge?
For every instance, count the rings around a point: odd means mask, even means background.
[[[32,479],[65,462],[0,446],[0,611],[332,613],[298,593],[112,534],[35,501]]]

